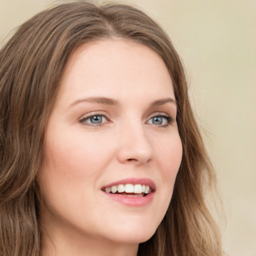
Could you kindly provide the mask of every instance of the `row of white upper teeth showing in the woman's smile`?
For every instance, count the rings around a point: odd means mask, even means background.
[[[104,187],[102,189],[103,191],[107,192],[107,193],[135,193],[137,195],[142,194],[148,194],[149,192],[151,192],[151,188],[149,187],[149,185],[141,185],[141,184],[118,184],[118,185],[112,185],[111,187]],[[135,195],[136,196],[136,195]]]

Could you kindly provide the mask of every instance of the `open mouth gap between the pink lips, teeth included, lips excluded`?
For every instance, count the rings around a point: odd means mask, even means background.
[[[141,197],[146,196],[152,192],[152,188],[147,184],[118,184],[106,186],[101,189],[102,191],[110,194],[120,194],[124,196]]]

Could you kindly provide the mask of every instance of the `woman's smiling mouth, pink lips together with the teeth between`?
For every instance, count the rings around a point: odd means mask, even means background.
[[[153,200],[155,183],[148,178],[126,178],[106,184],[101,190],[118,202],[139,206]]]

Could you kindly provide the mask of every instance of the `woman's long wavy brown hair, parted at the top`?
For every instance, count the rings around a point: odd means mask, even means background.
[[[204,198],[204,189],[214,187],[215,175],[170,39],[137,8],[84,1],[40,12],[0,50],[0,255],[40,254],[36,172],[61,72],[78,45],[109,37],[133,40],[156,51],[169,70],[177,100],[181,165],[168,210],[155,234],[139,244],[138,255],[222,255],[219,231]]]

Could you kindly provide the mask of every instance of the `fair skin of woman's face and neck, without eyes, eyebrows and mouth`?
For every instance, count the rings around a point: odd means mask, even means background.
[[[104,97],[116,104],[81,99]],[[122,39],[79,46],[70,55],[45,134],[38,179],[42,255],[136,255],[171,199],[182,146],[168,70],[156,52]],[[95,125],[88,117],[100,115]],[[102,116],[105,115],[106,117]],[[161,125],[153,116],[161,117]],[[101,190],[124,178],[150,178],[153,200],[114,201]],[[54,244],[54,246],[52,245]],[[100,244],[100,246],[99,246]]]

